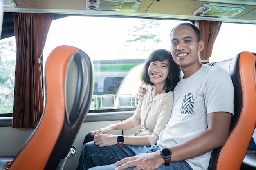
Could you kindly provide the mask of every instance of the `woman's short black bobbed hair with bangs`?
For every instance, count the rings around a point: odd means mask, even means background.
[[[154,62],[154,61],[162,62],[166,59],[169,59],[169,73],[167,76],[169,77],[168,78],[169,80],[166,79],[165,86],[164,86],[165,92],[167,93],[169,91],[173,91],[175,86],[180,80],[180,66],[174,62],[173,57],[171,56],[171,53],[166,49],[158,49],[150,53],[141,73],[141,81],[146,84],[150,84],[151,86],[154,86],[154,84],[150,81],[150,78],[148,75],[148,67],[151,62]]]

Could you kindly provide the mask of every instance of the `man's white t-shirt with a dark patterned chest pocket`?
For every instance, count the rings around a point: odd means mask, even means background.
[[[233,102],[234,88],[227,72],[217,66],[202,65],[177,84],[171,118],[157,144],[160,148],[170,147],[195,137],[207,129],[209,113],[233,114]],[[193,170],[207,170],[210,157],[211,151],[185,161]]]

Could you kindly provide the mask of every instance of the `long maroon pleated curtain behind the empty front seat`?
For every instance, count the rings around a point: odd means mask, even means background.
[[[40,58],[54,14],[14,13],[13,128],[36,127],[44,108]]]

